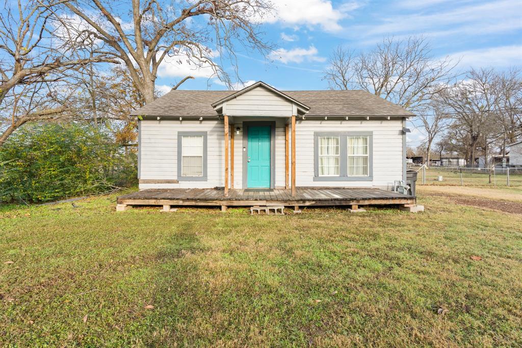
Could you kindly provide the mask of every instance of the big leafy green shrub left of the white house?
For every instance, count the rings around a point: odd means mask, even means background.
[[[43,202],[136,180],[136,155],[79,124],[23,127],[0,147],[0,202]]]

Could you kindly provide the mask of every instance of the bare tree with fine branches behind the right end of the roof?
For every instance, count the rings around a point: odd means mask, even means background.
[[[457,64],[448,57],[435,60],[422,37],[387,38],[368,53],[338,47],[324,79],[331,89],[364,89],[418,111],[455,78]]]

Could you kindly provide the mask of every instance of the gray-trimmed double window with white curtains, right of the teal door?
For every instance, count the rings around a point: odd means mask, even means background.
[[[314,181],[373,180],[373,132],[314,132]]]

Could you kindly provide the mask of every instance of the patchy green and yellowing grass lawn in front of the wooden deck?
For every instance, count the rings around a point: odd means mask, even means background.
[[[0,208],[0,346],[522,345],[522,214],[114,199]]]

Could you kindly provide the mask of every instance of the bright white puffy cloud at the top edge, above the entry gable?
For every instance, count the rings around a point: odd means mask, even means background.
[[[341,30],[339,21],[349,18],[350,11],[360,6],[356,1],[344,2],[334,8],[329,0],[278,0],[274,2],[274,14],[262,20],[269,23],[281,22],[289,27],[319,26],[325,31],[333,32]]]

